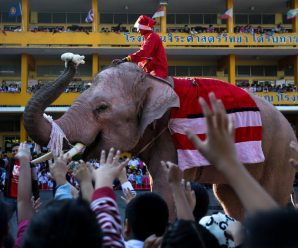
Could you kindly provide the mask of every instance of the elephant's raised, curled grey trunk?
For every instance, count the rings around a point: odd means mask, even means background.
[[[44,85],[29,100],[24,111],[24,126],[28,135],[38,144],[47,145],[50,140],[51,124],[43,117],[44,110],[54,102],[71,82],[76,65],[68,62],[63,74],[53,83]]]

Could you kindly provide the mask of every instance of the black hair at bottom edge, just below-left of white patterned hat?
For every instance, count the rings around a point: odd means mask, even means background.
[[[191,220],[177,220],[163,237],[162,248],[217,248],[217,239],[205,227]]]

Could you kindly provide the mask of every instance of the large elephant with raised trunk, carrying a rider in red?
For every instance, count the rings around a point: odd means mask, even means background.
[[[76,70],[77,65],[68,61],[63,74],[37,91],[25,107],[24,126],[36,143],[48,145],[52,127],[43,112],[64,91]],[[78,96],[55,123],[67,138],[64,147],[77,142],[86,146],[84,159],[98,158],[102,149],[111,147],[139,154],[153,178],[153,190],[167,201],[173,217],[171,191],[160,165],[161,160],[177,163],[168,124],[170,110],[179,107],[179,100],[169,82],[172,82],[171,77],[156,78],[134,63],[111,65],[96,75],[92,86]],[[290,141],[296,141],[296,136],[273,105],[253,94],[251,97],[260,110],[265,160],[245,166],[279,204],[286,205],[295,175],[294,169],[288,166],[289,158],[295,158],[295,154],[288,146]],[[187,169],[184,178],[213,184],[224,211],[243,219],[243,206],[215,166]]]

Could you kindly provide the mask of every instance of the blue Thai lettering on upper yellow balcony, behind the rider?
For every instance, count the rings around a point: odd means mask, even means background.
[[[125,43],[140,43],[143,37],[135,33],[123,33]],[[199,45],[298,45],[298,34],[160,34],[161,40],[167,46],[199,46]]]

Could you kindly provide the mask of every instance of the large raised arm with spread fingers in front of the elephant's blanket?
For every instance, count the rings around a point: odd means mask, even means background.
[[[199,102],[207,122],[207,139],[200,140],[191,131],[188,138],[211,164],[226,177],[248,213],[278,207],[273,198],[260,186],[239,162],[234,145],[234,129],[221,100],[209,94],[212,110],[204,99]]]

